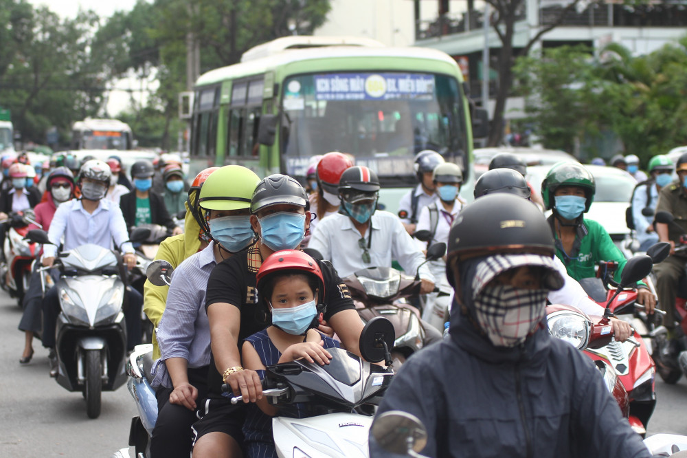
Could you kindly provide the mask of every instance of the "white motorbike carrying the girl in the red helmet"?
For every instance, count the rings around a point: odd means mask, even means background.
[[[272,420],[274,444],[280,458],[368,457],[372,415],[390,385],[394,371],[370,362],[392,364],[394,325],[383,317],[368,321],[360,336],[364,360],[344,349],[328,349],[329,364],[305,360],[267,367],[262,395],[286,413],[303,403],[306,418],[280,415]],[[231,388],[223,386],[225,391]],[[232,397],[232,404],[243,402]]]

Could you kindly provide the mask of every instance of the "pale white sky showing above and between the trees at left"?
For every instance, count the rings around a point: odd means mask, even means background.
[[[133,8],[136,0],[29,0],[34,6],[47,6],[50,10],[60,14],[62,17],[76,17],[79,8],[93,10],[101,18],[110,17],[116,11],[128,11]],[[113,82],[115,89],[109,94],[107,102],[107,112],[109,116],[117,116],[120,111],[124,111],[131,106],[130,96],[126,89],[138,89],[140,83],[135,78],[122,78]],[[149,86],[150,87],[150,86]],[[157,85],[153,85],[155,89]],[[136,91],[137,97],[139,94]]]

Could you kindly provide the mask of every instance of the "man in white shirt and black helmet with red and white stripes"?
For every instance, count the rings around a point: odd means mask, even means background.
[[[408,274],[420,273],[420,294],[434,289],[434,279],[422,252],[390,212],[376,211],[379,178],[364,166],[341,175],[341,212],[323,219],[308,248],[319,251],[341,277],[370,267],[391,267],[396,259]]]

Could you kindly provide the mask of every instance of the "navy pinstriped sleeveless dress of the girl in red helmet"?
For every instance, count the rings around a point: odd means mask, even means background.
[[[321,336],[322,340],[324,340],[324,348],[339,348],[337,340],[324,334],[321,334]],[[282,353],[269,339],[267,329],[253,334],[246,338],[246,340],[251,342],[251,345],[256,349],[265,367],[277,364],[279,358],[282,357]],[[262,380],[264,378],[264,371],[258,371],[258,374],[260,375],[260,380]],[[297,408],[297,404],[295,404],[295,407],[295,409],[289,409],[293,415],[288,415],[284,412],[285,409],[282,409],[282,415],[301,418],[302,416],[298,415],[300,409]],[[254,403],[248,406],[246,421],[243,424],[243,434],[245,436],[244,440],[248,458],[278,458],[277,449],[274,446],[274,439],[272,437],[272,417],[265,415]]]

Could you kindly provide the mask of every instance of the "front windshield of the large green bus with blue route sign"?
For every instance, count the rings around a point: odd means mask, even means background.
[[[284,81],[281,147],[287,173],[309,158],[352,153],[386,184],[414,183],[413,157],[433,149],[464,169],[467,138],[458,80],[442,74],[321,73]]]

